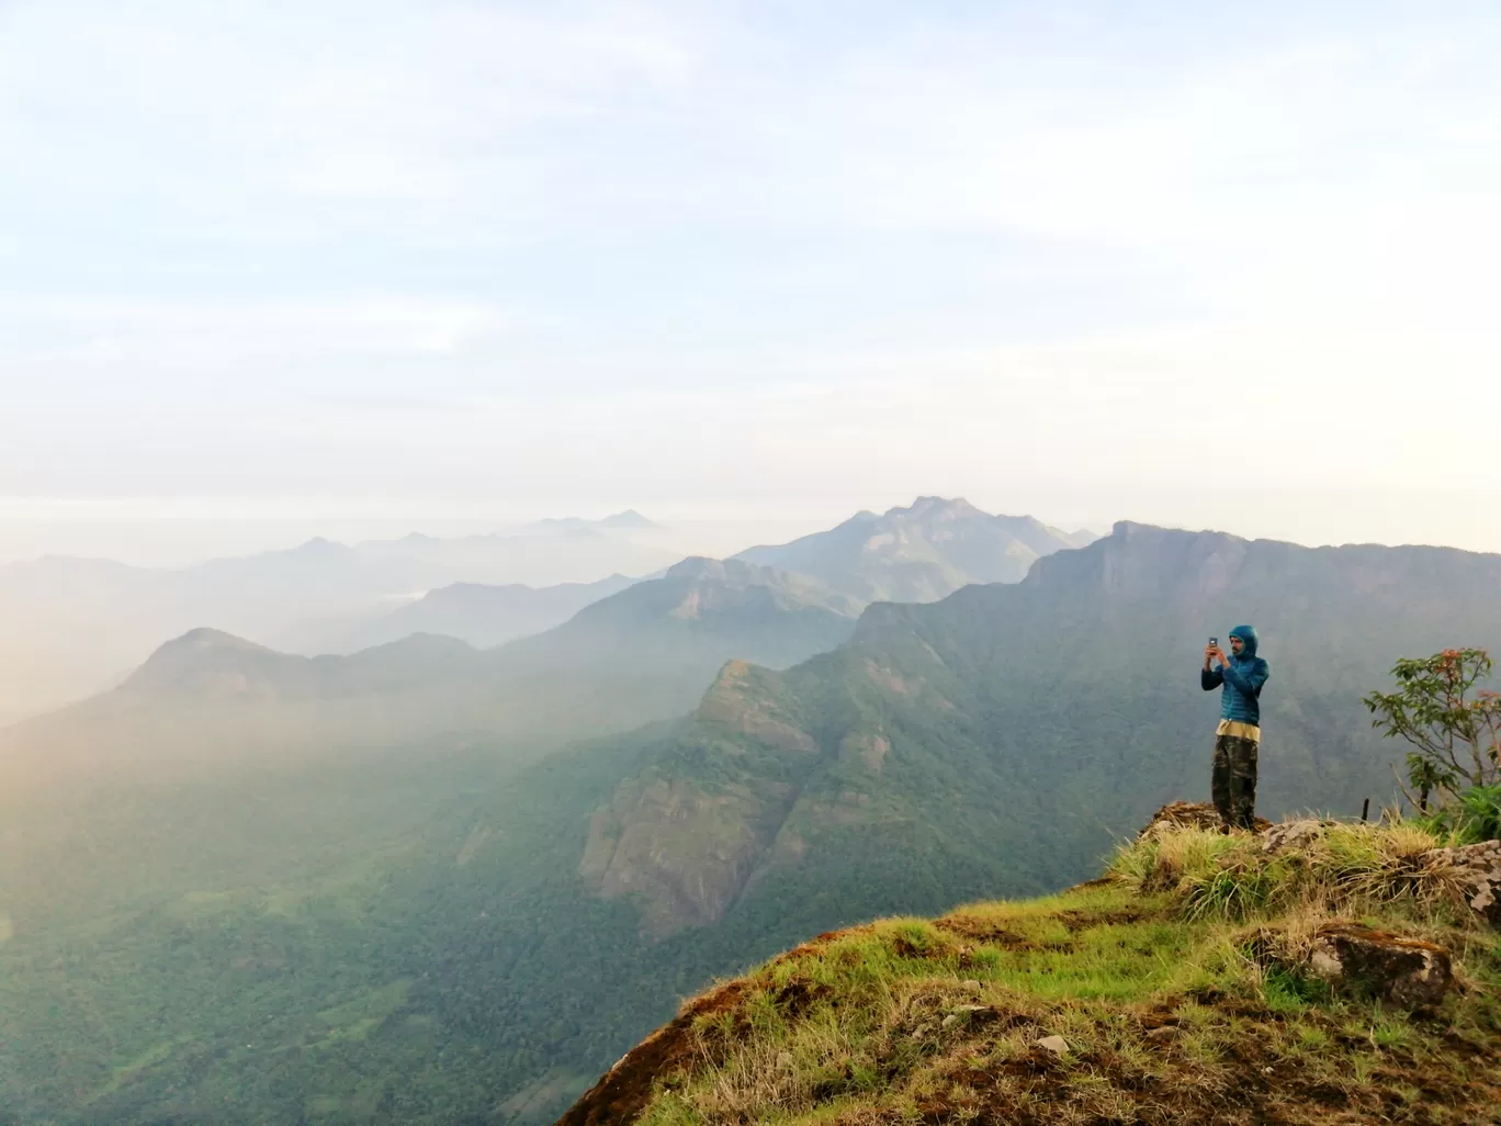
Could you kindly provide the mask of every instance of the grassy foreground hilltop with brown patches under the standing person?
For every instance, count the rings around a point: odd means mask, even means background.
[[[1501,940],[1462,872],[1412,826],[1306,832],[1154,823],[1063,895],[820,935],[687,1001],[560,1126],[1501,1121]],[[1321,976],[1351,923],[1442,947],[1442,1000]]]

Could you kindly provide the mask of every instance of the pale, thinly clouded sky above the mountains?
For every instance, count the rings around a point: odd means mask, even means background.
[[[0,558],[919,494],[1501,551],[1498,56],[1490,0],[0,0]]]

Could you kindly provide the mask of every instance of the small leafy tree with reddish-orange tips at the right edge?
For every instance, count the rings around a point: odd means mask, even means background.
[[[1490,668],[1483,649],[1445,649],[1397,661],[1391,670],[1397,691],[1361,700],[1375,716],[1372,727],[1415,748],[1406,764],[1418,796],[1408,799],[1424,812],[1435,791],[1457,794],[1501,782],[1501,695],[1475,689]]]

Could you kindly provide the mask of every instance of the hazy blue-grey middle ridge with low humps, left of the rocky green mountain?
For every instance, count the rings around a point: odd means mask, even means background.
[[[72,781],[78,769],[143,764],[201,773],[242,757],[266,766],[476,743],[521,761],[680,715],[731,658],[785,667],[832,649],[857,613],[814,580],[684,560],[491,650],[410,634],[306,658],[201,628],[161,646],[116,689],[0,730],[0,778]]]

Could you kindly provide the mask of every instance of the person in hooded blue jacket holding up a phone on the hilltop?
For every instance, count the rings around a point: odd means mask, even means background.
[[[1204,650],[1199,683],[1205,692],[1223,686],[1220,724],[1214,731],[1214,773],[1210,791],[1226,829],[1255,830],[1256,752],[1261,749],[1261,686],[1271,668],[1256,656],[1256,631],[1235,626],[1229,632],[1231,656],[1217,644]],[[1219,668],[1210,665],[1219,661]]]

